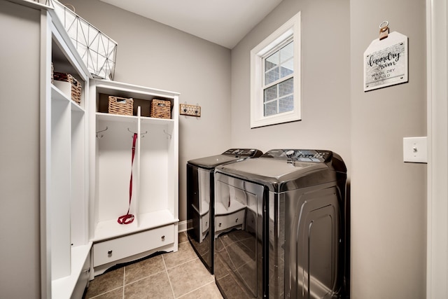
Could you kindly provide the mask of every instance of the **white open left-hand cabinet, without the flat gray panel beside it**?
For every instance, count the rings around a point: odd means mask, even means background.
[[[54,11],[43,18],[45,39],[51,46],[43,52],[45,92],[45,178],[47,199],[42,202],[49,251],[52,298],[76,298],[87,286],[92,242],[88,234],[88,102],[89,71]],[[47,41],[48,42],[48,41]],[[44,47],[45,48],[45,47]],[[51,66],[52,64],[52,66]],[[81,85],[80,103],[73,100],[71,83],[51,81],[55,72],[70,74]],[[50,71],[50,72],[48,72]],[[42,229],[41,229],[42,232]],[[42,243],[43,244],[43,243]]]

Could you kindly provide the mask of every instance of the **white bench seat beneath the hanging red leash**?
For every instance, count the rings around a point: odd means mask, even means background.
[[[125,225],[118,223],[117,219],[102,221],[97,223],[97,227],[94,232],[94,239],[92,239],[92,241],[99,242],[105,239],[113,239],[176,222],[179,222],[179,218],[175,218],[167,209],[151,213],[138,214],[136,215],[133,223]]]

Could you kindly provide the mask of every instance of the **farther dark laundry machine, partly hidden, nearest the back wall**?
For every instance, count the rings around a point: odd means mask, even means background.
[[[221,155],[187,162],[188,239],[197,256],[213,274],[214,250],[214,171],[217,165],[257,158],[261,151],[253,148],[230,148]]]

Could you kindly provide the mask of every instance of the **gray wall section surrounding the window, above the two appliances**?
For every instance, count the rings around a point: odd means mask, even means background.
[[[302,120],[251,129],[250,51],[298,11],[302,17]],[[263,152],[329,149],[349,165],[349,32],[348,0],[283,0],[240,41],[232,50],[232,146]]]

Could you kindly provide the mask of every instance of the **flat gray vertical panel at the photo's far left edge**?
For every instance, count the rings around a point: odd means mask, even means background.
[[[40,24],[41,11],[0,1],[0,298],[41,293]]]

